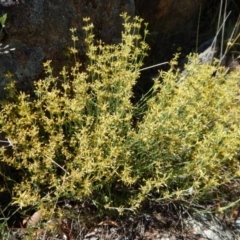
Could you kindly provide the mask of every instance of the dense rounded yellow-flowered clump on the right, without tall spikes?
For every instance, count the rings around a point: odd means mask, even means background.
[[[196,56],[182,74],[171,64],[162,82],[155,79],[133,140],[150,174],[139,199],[157,191],[163,199],[202,200],[231,181],[239,187],[240,72],[200,65]]]

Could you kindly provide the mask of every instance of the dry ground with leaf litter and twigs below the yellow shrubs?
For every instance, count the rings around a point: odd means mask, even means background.
[[[36,240],[238,240],[233,222],[239,216],[235,210],[229,216],[220,216],[218,220],[202,217],[207,224],[190,224],[187,219],[194,215],[185,204],[154,203],[143,207],[137,214],[127,214],[123,217],[110,217],[111,214],[96,215],[96,209],[89,203],[65,202],[62,210],[65,216],[61,220],[53,219],[38,227],[10,228],[8,239]],[[185,205],[186,206],[186,205]],[[203,208],[198,209],[200,212]],[[201,214],[200,214],[201,215]],[[198,215],[198,216],[200,216]],[[230,216],[231,215],[231,216]],[[230,217],[232,219],[230,219]],[[195,220],[194,220],[195,221]],[[219,222],[218,222],[219,221]],[[221,221],[221,223],[220,223]],[[210,226],[211,225],[211,226]],[[208,234],[208,229],[218,225],[216,234]],[[201,228],[201,231],[199,230]],[[197,230],[196,230],[197,229]],[[205,230],[204,230],[205,229]],[[204,232],[205,231],[205,232]],[[220,233],[222,231],[222,233]],[[205,235],[205,236],[204,236]]]

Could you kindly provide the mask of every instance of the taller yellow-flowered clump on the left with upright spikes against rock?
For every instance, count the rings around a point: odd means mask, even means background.
[[[35,83],[34,97],[21,92],[16,101],[2,104],[7,146],[1,161],[21,172],[21,182],[14,185],[14,202],[21,207],[94,194],[96,202],[111,205],[112,191],[127,189],[141,177],[131,174],[135,109],[130,99],[148,50],[147,30],[142,38],[142,19],[122,17],[122,41],[116,45],[94,44],[93,25],[84,19],[86,71],[76,62],[70,73],[63,68],[54,77],[47,61],[47,77]]]

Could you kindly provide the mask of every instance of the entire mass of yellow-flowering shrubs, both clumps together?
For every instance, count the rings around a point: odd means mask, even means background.
[[[181,74],[174,59],[134,105],[147,30],[142,38],[142,20],[123,18],[115,45],[95,43],[85,19],[85,71],[76,61],[54,77],[47,61],[34,96],[20,92],[2,103],[0,126],[11,146],[0,157],[21,172],[13,186],[21,207],[73,197],[136,209],[146,198],[203,199],[239,181],[240,73],[200,65],[193,56]]]

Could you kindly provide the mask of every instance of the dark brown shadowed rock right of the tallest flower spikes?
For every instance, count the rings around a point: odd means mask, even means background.
[[[199,16],[208,5],[207,0],[136,0],[136,13],[149,23],[151,61],[149,65],[169,61],[181,49],[186,56],[199,45],[214,37],[199,38]],[[209,29],[208,29],[209,30]],[[197,42],[198,39],[198,43]]]

